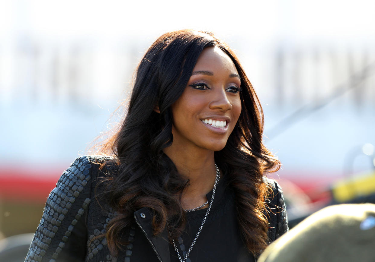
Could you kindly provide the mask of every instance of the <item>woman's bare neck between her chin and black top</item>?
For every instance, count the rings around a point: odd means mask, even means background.
[[[173,161],[178,173],[189,179],[189,186],[181,195],[183,208],[195,208],[207,201],[206,195],[213,189],[216,177],[214,152],[205,149],[192,152],[170,146],[164,153]]]

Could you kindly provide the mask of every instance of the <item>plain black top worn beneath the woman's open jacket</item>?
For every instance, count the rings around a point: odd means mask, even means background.
[[[214,201],[205,221],[201,233],[193,246],[188,258],[191,262],[211,261],[246,261],[253,262],[254,257],[249,254],[240,239],[234,207],[234,192],[226,185],[223,175],[216,186]],[[210,204],[212,191],[207,194]],[[208,206],[207,205],[207,206]],[[183,259],[202,224],[207,208],[186,213],[186,233],[181,236],[180,243],[176,242],[178,252]],[[174,246],[169,246],[171,262],[179,262]]]

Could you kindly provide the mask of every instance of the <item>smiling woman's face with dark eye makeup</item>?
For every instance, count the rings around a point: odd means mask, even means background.
[[[223,149],[241,113],[240,85],[231,58],[216,46],[205,48],[172,105],[173,145],[181,150]]]

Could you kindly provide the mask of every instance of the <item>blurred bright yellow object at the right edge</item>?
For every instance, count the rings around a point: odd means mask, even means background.
[[[371,194],[375,194],[375,171],[339,181],[332,186],[333,198],[340,203]]]

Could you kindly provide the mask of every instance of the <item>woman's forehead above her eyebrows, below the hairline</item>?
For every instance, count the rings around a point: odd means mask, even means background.
[[[205,70],[207,68],[224,67],[231,73],[237,73],[236,66],[232,59],[217,46],[209,46],[203,49],[196,61],[194,70]]]

